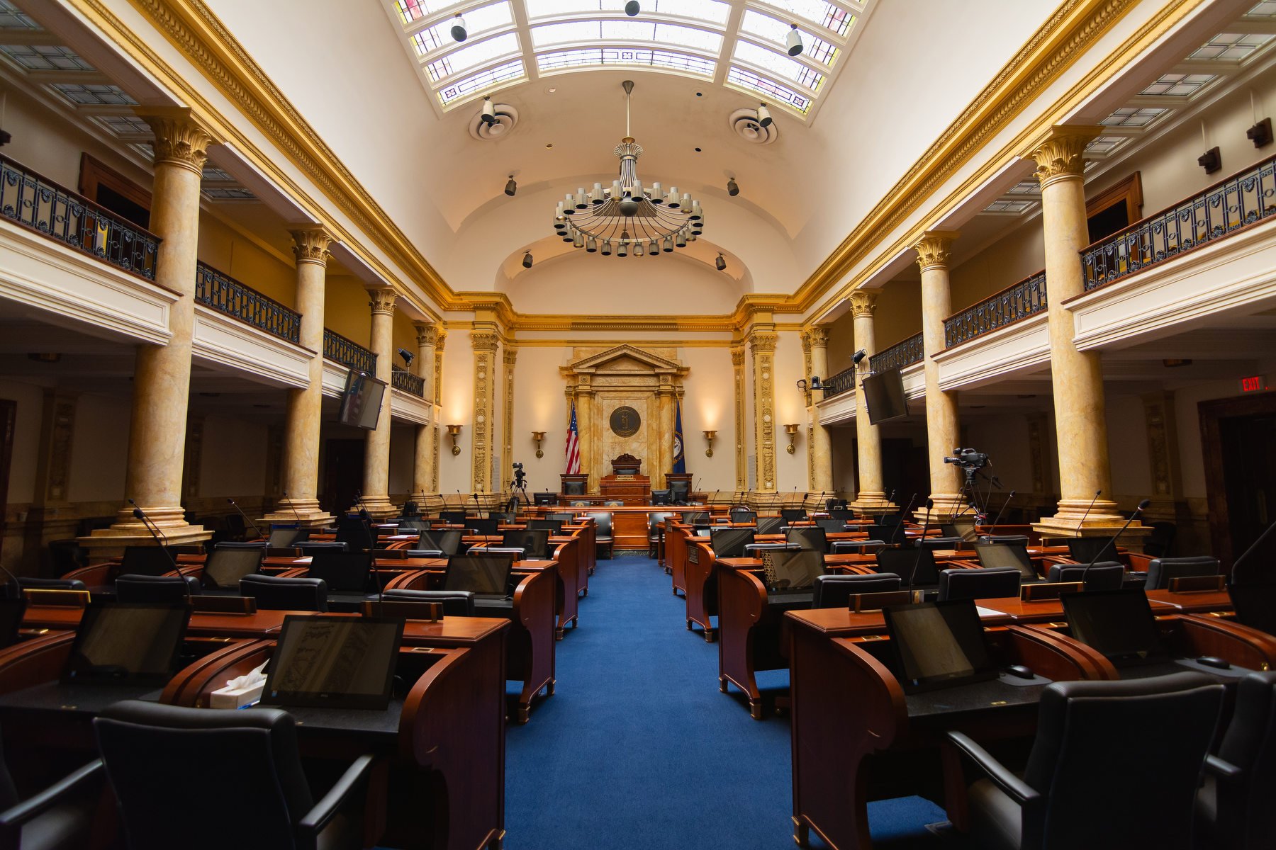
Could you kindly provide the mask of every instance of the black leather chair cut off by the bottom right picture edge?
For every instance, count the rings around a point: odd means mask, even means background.
[[[1236,710],[1205,765],[1197,794],[1201,850],[1270,850],[1276,798],[1276,672],[1250,673],[1236,687]]]

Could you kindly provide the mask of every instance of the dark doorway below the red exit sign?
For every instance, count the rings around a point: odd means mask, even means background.
[[[1213,554],[1226,570],[1276,521],[1276,393],[1201,401],[1201,443]],[[1276,535],[1242,567],[1276,580]]]

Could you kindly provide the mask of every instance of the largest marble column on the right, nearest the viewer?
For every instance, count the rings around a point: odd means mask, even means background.
[[[1097,127],[1057,126],[1026,154],[1036,162],[1036,177],[1041,184],[1060,494],[1058,514],[1044,517],[1034,528],[1057,537],[1101,537],[1125,521],[1116,514],[1116,502],[1111,501],[1099,352],[1077,350],[1072,311],[1063,306],[1068,298],[1085,292],[1079,251],[1090,242],[1090,236],[1082,154],[1097,131]],[[1096,500],[1095,493],[1100,491]],[[1138,528],[1136,524],[1132,530],[1137,534]]]

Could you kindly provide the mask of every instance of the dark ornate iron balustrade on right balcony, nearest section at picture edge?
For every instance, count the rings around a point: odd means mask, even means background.
[[[1276,215],[1276,158],[1082,249],[1086,289],[1096,289]]]

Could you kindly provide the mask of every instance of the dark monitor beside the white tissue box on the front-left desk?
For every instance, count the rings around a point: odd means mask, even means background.
[[[384,710],[402,638],[402,619],[285,617],[262,702]]]

